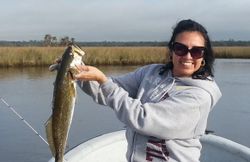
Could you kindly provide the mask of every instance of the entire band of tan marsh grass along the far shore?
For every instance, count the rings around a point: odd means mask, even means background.
[[[165,47],[83,47],[89,65],[143,65],[165,63]],[[0,67],[48,66],[64,47],[0,47]],[[215,47],[216,58],[250,58],[250,47]]]

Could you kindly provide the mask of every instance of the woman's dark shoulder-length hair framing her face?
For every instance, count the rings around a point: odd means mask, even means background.
[[[196,72],[193,73],[192,77],[195,79],[208,79],[208,76],[213,77],[213,63],[214,63],[214,53],[211,47],[211,42],[207,34],[207,30],[199,23],[193,20],[182,20],[177,23],[176,27],[173,30],[172,37],[168,42],[168,48],[170,52],[172,51],[172,45],[175,42],[176,36],[182,32],[200,32],[205,39],[205,53],[203,59],[205,60],[205,65],[201,66]],[[173,62],[170,60],[166,66],[165,70],[162,72],[173,69]]]

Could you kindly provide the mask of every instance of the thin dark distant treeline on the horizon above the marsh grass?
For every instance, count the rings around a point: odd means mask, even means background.
[[[77,42],[79,46],[85,47],[112,47],[112,46],[121,46],[121,47],[136,47],[136,46],[152,46],[152,47],[165,47],[168,42],[166,41],[129,41],[129,42],[119,42],[119,41],[97,41],[97,42]],[[235,41],[235,40],[226,40],[226,41],[213,41],[213,46],[250,46],[250,41]],[[43,40],[31,40],[31,41],[0,41],[0,46],[14,46],[14,47],[24,47],[24,46],[38,46],[44,47],[48,46]],[[53,44],[51,46],[65,46],[62,44]]]

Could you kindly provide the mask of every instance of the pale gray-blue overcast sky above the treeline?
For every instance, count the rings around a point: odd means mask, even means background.
[[[0,40],[168,41],[182,19],[211,40],[250,40],[250,0],[5,0]]]

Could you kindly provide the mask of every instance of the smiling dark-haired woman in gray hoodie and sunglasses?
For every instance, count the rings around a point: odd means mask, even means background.
[[[213,80],[210,40],[202,25],[182,20],[168,47],[166,65],[147,65],[119,77],[107,78],[92,66],[78,67],[82,90],[111,107],[127,126],[128,161],[199,161],[199,139],[221,97]]]

